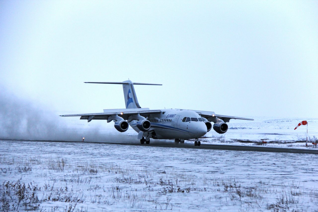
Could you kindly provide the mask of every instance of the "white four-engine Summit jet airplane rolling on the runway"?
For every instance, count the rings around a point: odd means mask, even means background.
[[[134,85],[162,85],[138,83],[126,80],[123,82],[85,82],[99,84],[121,84],[124,91],[125,109],[108,109],[103,113],[60,115],[62,117],[80,116],[80,119],[114,121],[114,127],[119,132],[128,130],[131,126],[138,132],[141,144],[149,144],[152,139],[175,139],[175,143],[184,143],[184,140],[195,139],[194,145],[200,146],[199,138],[212,129],[223,134],[228,130],[227,122],[230,119],[254,120],[232,116],[217,115],[211,111],[162,109],[150,110],[139,105]]]

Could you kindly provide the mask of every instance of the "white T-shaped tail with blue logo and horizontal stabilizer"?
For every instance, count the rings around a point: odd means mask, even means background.
[[[126,80],[123,82],[85,82],[85,83],[122,84],[122,88],[124,90],[126,108],[141,108],[137,99],[134,84],[135,85],[162,85],[162,84],[132,82],[130,80]]]

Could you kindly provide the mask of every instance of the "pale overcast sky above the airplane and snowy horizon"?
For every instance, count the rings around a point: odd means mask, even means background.
[[[1,92],[39,109],[318,117],[318,1],[0,1]]]

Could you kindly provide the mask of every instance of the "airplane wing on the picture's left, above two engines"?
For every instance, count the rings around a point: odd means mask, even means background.
[[[149,114],[161,113],[161,110],[149,110],[149,108],[136,108],[136,109],[110,109],[104,110],[103,113],[87,113],[87,114],[72,114],[72,115],[60,115],[60,116],[80,116],[80,119],[86,119],[90,122],[93,119],[107,120],[110,116],[122,117],[124,120],[128,120],[131,115],[137,115],[148,117]]]

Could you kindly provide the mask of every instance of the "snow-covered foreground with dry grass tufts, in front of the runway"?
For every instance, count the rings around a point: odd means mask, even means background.
[[[0,207],[317,211],[317,159],[313,154],[0,140]]]

